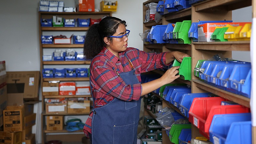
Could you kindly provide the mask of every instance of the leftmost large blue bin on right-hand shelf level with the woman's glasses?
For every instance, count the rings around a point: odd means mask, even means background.
[[[167,25],[156,25],[153,26],[149,33],[149,38],[156,44],[163,44],[166,43],[163,40],[164,31],[167,28]]]

